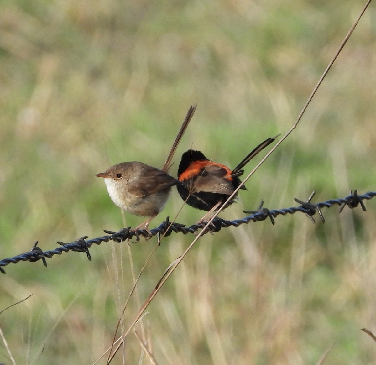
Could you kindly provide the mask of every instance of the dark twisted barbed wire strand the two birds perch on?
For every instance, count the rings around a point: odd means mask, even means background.
[[[346,198],[340,198],[340,199],[331,199],[324,201],[322,203],[311,203],[311,199],[313,198],[315,192],[311,194],[311,196],[308,198],[307,201],[302,201],[297,198],[294,198],[297,203],[300,204],[300,206],[297,207],[290,207],[290,208],[284,208],[284,209],[273,209],[269,210],[268,208],[262,207],[264,204],[264,201],[261,201],[261,204],[259,208],[256,211],[243,211],[247,215],[244,218],[236,219],[233,221],[227,221],[222,218],[216,217],[212,223],[205,229],[204,234],[206,233],[214,233],[220,231],[222,228],[227,228],[230,226],[238,227],[240,224],[249,223],[250,221],[264,221],[266,219],[270,219],[271,223],[274,224],[274,218],[276,218],[278,215],[287,215],[287,214],[295,214],[296,212],[302,212],[306,214],[312,221],[312,223],[315,223],[315,220],[313,216],[318,213],[320,216],[321,221],[324,223],[325,219],[321,212],[321,208],[323,207],[331,207],[334,205],[340,206],[340,213],[343,211],[343,208],[345,206],[348,206],[350,209],[353,209],[357,207],[359,204],[362,207],[363,211],[366,211],[365,205],[363,200],[370,200],[373,197],[376,196],[376,191],[370,191],[363,195],[358,195],[357,191],[354,192],[351,191],[350,195]],[[180,223],[171,223],[169,221],[170,217],[167,217],[164,222],[162,222],[158,227],[150,230],[147,232],[146,230],[138,230],[138,231],[132,231],[131,227],[123,228],[118,232],[112,232],[109,230],[104,230],[105,233],[107,233],[106,236],[98,237],[89,239],[86,241],[89,236],[83,236],[76,241],[64,243],[64,242],[57,242],[57,244],[61,245],[60,247],[56,247],[54,250],[50,251],[42,251],[40,247],[38,247],[38,241],[35,242],[32,249],[28,252],[24,252],[21,254],[18,254],[17,256],[8,258],[8,259],[2,259],[0,260],[0,272],[5,274],[5,270],[3,267],[5,267],[8,264],[17,264],[21,261],[30,261],[30,262],[36,262],[38,260],[42,260],[44,266],[47,266],[46,258],[50,259],[54,255],[61,255],[63,252],[68,251],[75,251],[75,252],[85,252],[88,259],[91,261],[91,255],[89,253],[89,248],[93,244],[100,245],[102,242],[109,242],[114,241],[117,243],[131,240],[133,237],[136,238],[136,242],[139,241],[139,237],[142,236],[145,239],[152,238],[153,236],[170,236],[172,232],[175,233],[183,233],[184,235],[188,233],[195,233],[197,230],[202,229],[205,227],[206,222],[200,223],[200,224],[193,224],[190,227],[186,227],[185,224]]]

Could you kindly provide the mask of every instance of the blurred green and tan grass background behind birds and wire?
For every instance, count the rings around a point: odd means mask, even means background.
[[[285,133],[363,6],[361,1],[25,2],[0,4],[0,258],[123,227],[96,173],[122,161],[162,167],[188,107],[188,148],[235,166]],[[375,189],[375,11],[365,13],[294,133],[221,214]],[[259,158],[258,158],[259,159]],[[247,166],[250,171],[253,164]],[[176,191],[162,214],[182,205]],[[278,217],[203,237],[144,320],[159,364],[373,364],[374,201]],[[184,207],[177,221],[202,213]],[[140,218],[126,215],[127,224]],[[141,302],[192,236],[164,239]],[[131,245],[136,273],[154,245]],[[93,363],[132,288],[126,245],[6,267],[1,328],[17,363]],[[115,279],[116,273],[123,279]],[[130,323],[139,307],[132,300]],[[138,328],[138,331],[141,331]],[[44,346],[44,350],[41,349]],[[42,352],[42,353],[41,353]],[[126,342],[126,363],[141,347]],[[0,361],[11,363],[2,346]],[[101,363],[104,363],[103,361]],[[113,363],[123,363],[118,356]],[[143,363],[146,363],[144,360]]]

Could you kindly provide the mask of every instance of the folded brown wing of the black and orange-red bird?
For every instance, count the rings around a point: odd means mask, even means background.
[[[218,165],[208,165],[187,184],[191,193],[213,192],[231,195],[234,191],[232,183],[226,178],[227,172]]]

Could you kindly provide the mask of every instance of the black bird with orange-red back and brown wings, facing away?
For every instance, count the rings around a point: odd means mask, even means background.
[[[182,182],[176,186],[180,197],[188,205],[208,211],[208,214],[202,218],[202,220],[205,219],[210,213],[217,211],[241,184],[239,176],[244,173],[243,167],[256,154],[274,142],[278,136],[265,139],[233,170],[225,165],[212,162],[200,151],[188,150],[184,152],[177,171],[178,179]],[[244,185],[240,189],[247,190]],[[226,204],[225,208],[235,200],[236,195]]]

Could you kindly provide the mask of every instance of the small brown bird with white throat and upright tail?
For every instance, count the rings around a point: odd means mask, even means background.
[[[176,151],[197,105],[189,108],[174,144],[162,168],[149,166],[143,162],[121,162],[109,167],[104,173],[96,174],[105,179],[109,196],[115,205],[133,215],[149,217],[133,230],[148,230],[150,221],[162,210],[170,195],[171,186],[181,182],[168,175],[171,160]]]

